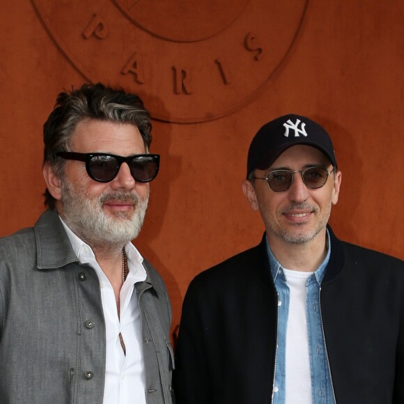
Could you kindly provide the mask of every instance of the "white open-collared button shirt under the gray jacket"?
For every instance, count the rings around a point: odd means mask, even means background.
[[[120,293],[120,317],[116,309],[114,289],[95,260],[93,250],[63,222],[72,248],[80,263],[94,268],[100,280],[102,310],[106,328],[107,357],[105,364],[104,404],[146,404],[146,380],[141,339],[141,313],[134,283],[146,280],[143,257],[131,242],[125,245],[129,273]],[[120,320],[121,318],[121,320]],[[119,334],[125,343],[123,352]]]

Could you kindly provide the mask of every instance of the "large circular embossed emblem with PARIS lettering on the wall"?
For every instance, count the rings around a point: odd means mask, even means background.
[[[32,1],[88,81],[138,93],[155,119],[194,123],[265,88],[309,0]]]

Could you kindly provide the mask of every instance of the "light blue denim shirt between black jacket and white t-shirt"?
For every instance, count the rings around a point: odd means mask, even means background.
[[[309,358],[311,371],[311,394],[313,404],[332,404],[334,394],[330,380],[329,364],[320,311],[320,288],[325,275],[331,244],[327,230],[328,251],[325,260],[306,280],[306,320],[309,338]],[[267,254],[272,277],[278,293],[278,335],[277,356],[274,373],[272,403],[283,404],[286,398],[286,327],[289,311],[289,288],[283,268],[272,254],[267,242]]]

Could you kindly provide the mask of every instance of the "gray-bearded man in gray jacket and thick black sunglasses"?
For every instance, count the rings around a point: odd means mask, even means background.
[[[0,402],[173,402],[171,306],[130,242],[160,155],[141,99],[59,94],[44,125],[45,205],[0,240]]]

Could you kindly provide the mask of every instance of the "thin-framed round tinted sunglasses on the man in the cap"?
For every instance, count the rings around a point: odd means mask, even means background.
[[[274,192],[285,192],[293,184],[293,174],[301,173],[304,185],[310,189],[324,187],[329,174],[333,171],[327,171],[324,167],[309,167],[304,170],[274,170],[267,173],[265,178],[255,177],[257,180],[265,180]]]

